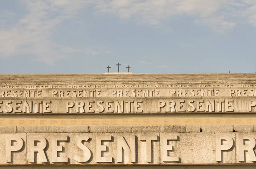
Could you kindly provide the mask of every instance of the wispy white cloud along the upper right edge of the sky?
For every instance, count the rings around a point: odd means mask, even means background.
[[[256,26],[256,0],[98,0],[95,9],[158,27],[175,16],[187,15],[221,34],[244,18]]]

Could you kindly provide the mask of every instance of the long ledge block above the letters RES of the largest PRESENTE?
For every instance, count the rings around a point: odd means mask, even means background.
[[[17,133],[86,133],[88,126],[17,126]]]

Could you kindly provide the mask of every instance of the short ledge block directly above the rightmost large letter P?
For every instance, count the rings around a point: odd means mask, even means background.
[[[223,125],[223,126],[201,126],[202,132],[233,132],[234,126]]]

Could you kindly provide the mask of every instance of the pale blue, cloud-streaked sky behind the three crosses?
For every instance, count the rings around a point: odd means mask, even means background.
[[[0,0],[0,74],[255,73],[256,0]]]

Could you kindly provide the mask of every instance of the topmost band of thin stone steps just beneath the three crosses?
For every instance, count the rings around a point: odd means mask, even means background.
[[[1,74],[0,82],[256,81],[256,74]]]

